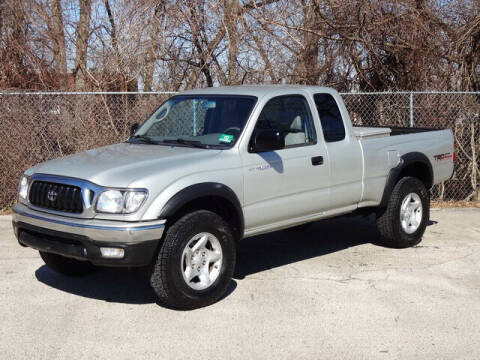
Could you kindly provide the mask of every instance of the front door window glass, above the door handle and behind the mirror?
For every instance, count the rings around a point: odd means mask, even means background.
[[[276,130],[285,137],[285,147],[315,143],[308,103],[303,96],[280,96],[263,108],[255,130]]]

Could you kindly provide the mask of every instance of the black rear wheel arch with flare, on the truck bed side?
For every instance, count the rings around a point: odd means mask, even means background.
[[[390,172],[383,190],[380,207],[386,207],[388,199],[397,182],[407,176],[418,178],[425,187],[430,189],[433,186],[433,168],[428,157],[420,152],[410,152],[400,157],[400,163],[390,169]]]

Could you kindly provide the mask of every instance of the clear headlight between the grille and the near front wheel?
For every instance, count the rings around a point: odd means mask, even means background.
[[[142,206],[147,192],[144,190],[106,190],[97,199],[97,212],[130,214]]]

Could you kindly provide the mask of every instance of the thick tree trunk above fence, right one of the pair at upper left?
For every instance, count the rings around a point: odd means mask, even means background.
[[[90,17],[92,0],[79,0],[80,17],[77,25],[77,40],[75,43],[75,90],[85,90],[87,80],[87,48],[90,37]]]

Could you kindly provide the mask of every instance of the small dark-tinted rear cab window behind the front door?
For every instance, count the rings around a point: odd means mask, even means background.
[[[325,141],[334,142],[345,139],[342,114],[333,96],[330,94],[315,94],[313,99],[320,117]]]

